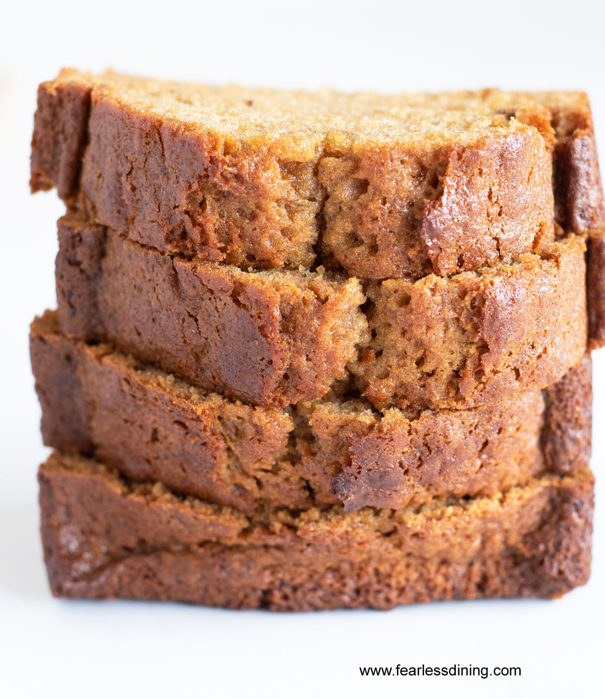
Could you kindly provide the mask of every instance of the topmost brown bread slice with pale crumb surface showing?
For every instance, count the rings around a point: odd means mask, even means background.
[[[553,170],[554,167],[554,170]],[[581,93],[307,93],[62,70],[33,191],[170,253],[365,279],[449,276],[598,227]]]

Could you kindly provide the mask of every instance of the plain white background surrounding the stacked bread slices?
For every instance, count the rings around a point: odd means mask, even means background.
[[[562,600],[388,613],[233,612],[54,600],[38,542],[46,456],[28,325],[54,306],[54,192],[29,196],[36,86],[61,66],[201,82],[353,90],[585,89],[605,164],[602,2],[45,3],[0,15],[0,692],[54,695],[584,696],[600,692],[605,519],[592,579]],[[595,356],[593,468],[605,454]],[[601,483],[605,477],[601,477]],[[603,487],[600,487],[601,491]],[[600,504],[600,502],[599,502]],[[520,678],[361,678],[368,664],[521,667]],[[603,695],[603,694],[600,694]]]

